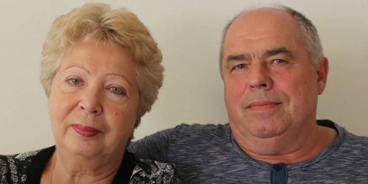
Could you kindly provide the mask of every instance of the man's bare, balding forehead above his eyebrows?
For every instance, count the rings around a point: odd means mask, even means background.
[[[299,33],[297,21],[287,11],[277,8],[255,9],[242,14],[229,27],[224,49],[244,43],[264,41],[271,44],[299,40]]]

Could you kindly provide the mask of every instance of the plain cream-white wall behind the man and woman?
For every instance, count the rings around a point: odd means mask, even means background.
[[[0,153],[53,145],[39,83],[42,43],[53,20],[85,0],[0,0]],[[105,0],[150,28],[163,53],[165,80],[136,138],[179,123],[226,123],[218,50],[226,21],[253,5],[280,2],[317,27],[330,73],[318,119],[368,135],[367,0]]]

